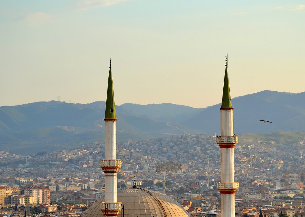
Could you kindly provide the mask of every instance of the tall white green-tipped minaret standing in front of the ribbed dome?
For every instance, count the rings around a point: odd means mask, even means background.
[[[111,58],[104,121],[106,160],[101,160],[101,168],[105,172],[105,202],[101,204],[101,211],[105,216],[117,216],[122,209],[122,203],[117,202],[117,172],[121,168],[122,162],[117,160],[117,118],[115,115]]]

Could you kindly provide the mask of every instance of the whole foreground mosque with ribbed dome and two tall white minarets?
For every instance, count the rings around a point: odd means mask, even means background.
[[[216,143],[221,149],[221,181],[217,189],[221,193],[221,216],[235,216],[235,192],[239,183],[234,181],[234,147],[238,137],[233,132],[233,107],[228,80],[227,58],[225,64],[224,87],[221,113],[221,135]],[[105,196],[95,201],[83,217],[125,216],[125,217],[184,217],[185,209],[164,193],[138,188],[136,176],[132,189],[117,191],[117,172],[122,162],[117,159],[117,118],[114,104],[111,59],[105,110],[105,158],[101,168],[105,172]]]

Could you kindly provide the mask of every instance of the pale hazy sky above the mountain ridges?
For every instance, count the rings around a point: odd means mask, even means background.
[[[305,91],[304,1],[0,1],[0,106],[105,101],[220,103]],[[232,102],[234,106],[234,101]]]

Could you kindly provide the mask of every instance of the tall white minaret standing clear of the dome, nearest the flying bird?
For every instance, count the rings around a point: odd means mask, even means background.
[[[221,217],[235,216],[235,192],[239,187],[234,182],[234,147],[238,143],[238,137],[233,131],[233,107],[230,96],[228,78],[227,57],[224,73],[224,90],[220,108],[221,135],[216,136],[216,143],[221,150],[221,180],[217,183],[217,189],[221,193]]]

